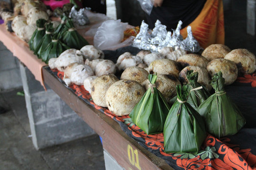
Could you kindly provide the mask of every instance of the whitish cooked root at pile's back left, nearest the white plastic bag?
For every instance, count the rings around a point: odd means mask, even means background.
[[[104,53],[100,49],[94,47],[93,45],[85,45],[80,51],[85,59],[104,59]]]

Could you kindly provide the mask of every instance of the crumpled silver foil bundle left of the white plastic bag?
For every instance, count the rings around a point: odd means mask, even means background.
[[[69,17],[73,18],[73,22],[80,26],[90,24],[89,18],[85,14],[85,8],[80,8],[79,11],[77,11],[75,6],[73,6],[69,13]]]

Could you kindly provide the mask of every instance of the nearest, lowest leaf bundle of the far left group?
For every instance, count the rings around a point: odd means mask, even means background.
[[[41,59],[48,64],[49,59],[59,57],[67,49],[69,47],[58,40],[58,34],[54,34],[53,40],[47,45],[46,50],[41,53]]]

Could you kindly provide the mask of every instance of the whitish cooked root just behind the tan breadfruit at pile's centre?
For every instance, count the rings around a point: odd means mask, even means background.
[[[120,64],[116,64],[119,70],[126,69],[131,66],[137,66],[142,63],[142,60],[138,56],[128,56],[121,60]]]

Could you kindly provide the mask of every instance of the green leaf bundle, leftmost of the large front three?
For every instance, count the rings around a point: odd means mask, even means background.
[[[147,135],[163,132],[165,119],[170,110],[170,106],[161,92],[153,87],[156,78],[156,75],[148,75],[149,86],[151,87],[147,89],[129,115],[133,123],[146,132]]]

